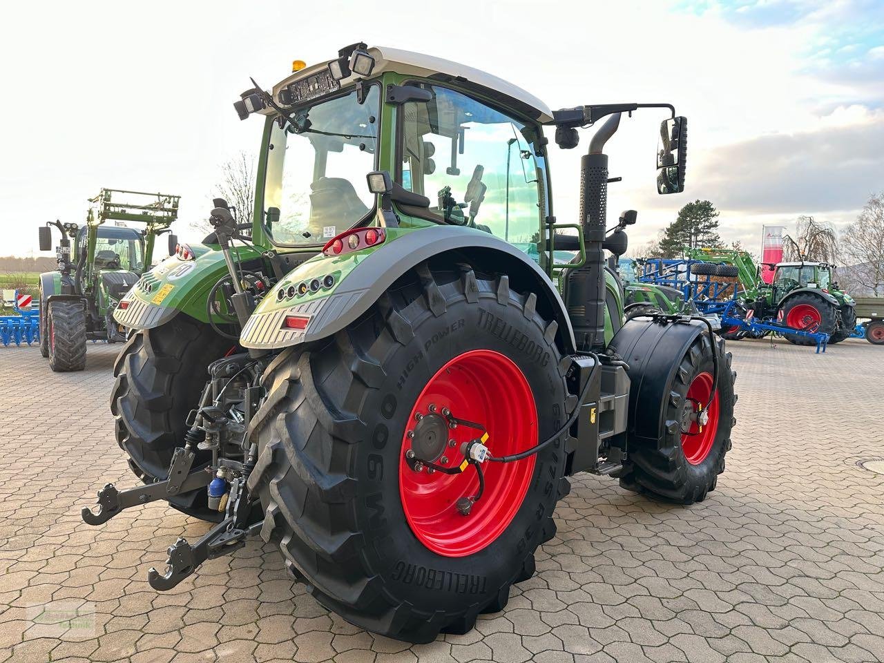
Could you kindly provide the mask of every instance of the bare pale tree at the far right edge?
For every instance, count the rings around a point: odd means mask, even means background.
[[[851,265],[850,280],[875,297],[884,295],[884,192],[869,198],[841,237],[842,255]]]

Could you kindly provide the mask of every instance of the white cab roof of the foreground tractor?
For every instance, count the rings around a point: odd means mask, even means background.
[[[477,93],[485,95],[492,100],[497,100],[505,106],[511,106],[514,110],[536,119],[541,123],[552,122],[552,110],[530,92],[513,85],[507,80],[492,76],[488,72],[474,69],[467,65],[461,65],[442,57],[424,55],[410,50],[391,49],[386,46],[372,46],[368,50],[375,58],[375,66],[370,78],[376,77],[383,72],[396,72],[401,74],[413,74],[422,78],[436,79],[439,81],[456,80],[465,88],[474,88]],[[272,94],[278,98],[279,90],[301,80],[316,72],[322,71],[331,60],[311,65],[300,72],[294,72],[286,79],[279,81],[274,87]],[[353,74],[341,80],[341,88],[358,80],[360,76]]]

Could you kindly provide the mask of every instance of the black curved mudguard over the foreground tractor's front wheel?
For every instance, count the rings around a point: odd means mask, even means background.
[[[636,317],[627,321],[614,336],[613,352],[629,364],[628,445],[631,438],[656,440],[659,437],[669,398],[667,385],[671,384],[690,344],[707,329],[697,320],[658,322]]]

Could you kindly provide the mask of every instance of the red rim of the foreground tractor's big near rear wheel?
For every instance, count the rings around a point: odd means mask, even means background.
[[[488,431],[485,443],[496,456],[518,453],[537,444],[537,408],[528,380],[503,354],[471,350],[454,357],[438,370],[423,388],[403,432],[399,466],[399,492],[408,525],[423,545],[446,557],[464,557],[490,545],[512,522],[534,474],[535,456],[507,463],[482,465],[485,489],[469,515],[454,507],[458,499],[478,491],[476,470],[462,474],[415,472],[406,460],[417,415],[451,411],[458,419],[482,423]],[[461,443],[481,437],[482,431],[458,426],[449,429],[455,446],[446,444],[438,465],[456,467],[463,461]]]

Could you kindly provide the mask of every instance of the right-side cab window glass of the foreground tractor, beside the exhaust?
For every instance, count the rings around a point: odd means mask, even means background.
[[[536,257],[546,215],[539,129],[451,89],[423,88],[430,101],[402,107],[402,187],[429,198],[438,221],[491,232]]]

